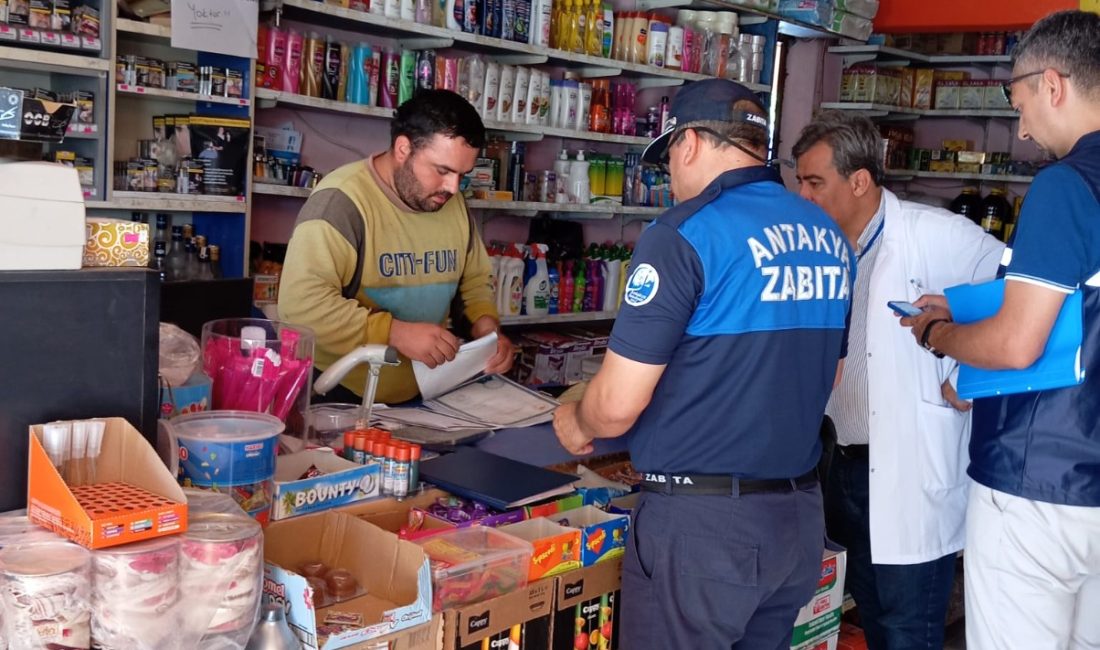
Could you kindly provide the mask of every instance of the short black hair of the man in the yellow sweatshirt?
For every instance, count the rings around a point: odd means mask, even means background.
[[[416,151],[435,135],[462,137],[474,147],[485,146],[485,124],[461,95],[450,90],[421,90],[394,113],[389,123],[389,145],[406,136]]]

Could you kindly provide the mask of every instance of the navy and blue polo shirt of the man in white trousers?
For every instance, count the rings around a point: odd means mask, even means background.
[[[1010,282],[1081,289],[1085,382],[976,400],[968,472],[1015,496],[1100,506],[1100,131],[1035,177],[1010,249]]]

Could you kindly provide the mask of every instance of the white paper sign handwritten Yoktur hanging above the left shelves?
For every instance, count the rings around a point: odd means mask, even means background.
[[[256,57],[256,0],[172,0],[172,46]]]

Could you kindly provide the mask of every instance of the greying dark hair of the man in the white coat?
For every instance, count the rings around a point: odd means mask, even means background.
[[[866,115],[844,111],[822,111],[806,124],[794,143],[794,159],[801,158],[818,142],[833,147],[833,165],[847,178],[867,169],[875,185],[882,185],[886,164],[882,161],[882,136],[875,122]]]

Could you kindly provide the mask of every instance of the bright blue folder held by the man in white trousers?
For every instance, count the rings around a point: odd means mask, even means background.
[[[955,322],[985,320],[1004,301],[1004,280],[959,285],[944,291]],[[1043,354],[1023,370],[990,371],[959,364],[958,394],[964,399],[1014,395],[1076,386],[1085,381],[1081,367],[1084,339],[1081,290],[1066,296]]]

